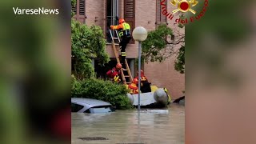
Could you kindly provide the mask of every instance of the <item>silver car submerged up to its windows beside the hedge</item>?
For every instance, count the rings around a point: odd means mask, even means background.
[[[109,102],[91,98],[71,98],[71,112],[98,114],[110,113],[114,110],[114,106]]]

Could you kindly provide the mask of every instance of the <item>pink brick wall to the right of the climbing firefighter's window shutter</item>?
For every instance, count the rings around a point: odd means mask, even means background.
[[[167,10],[176,9],[167,1]],[[168,26],[177,27],[174,22],[178,14],[174,14],[172,20],[167,19]],[[156,22],[156,1],[140,0],[136,1],[136,26],[143,26],[147,30],[154,30]],[[184,30],[182,31],[184,33]],[[176,48],[179,48],[177,46]],[[144,71],[150,82],[156,86],[166,87],[173,99],[182,96],[182,90],[185,90],[185,74],[179,74],[174,70],[175,57],[166,59],[165,62],[149,62],[144,65]]]

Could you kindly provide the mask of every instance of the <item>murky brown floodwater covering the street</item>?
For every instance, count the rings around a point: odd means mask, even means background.
[[[169,112],[142,109],[110,114],[72,113],[72,143],[185,143],[185,107],[171,104]],[[102,140],[81,138],[101,137]],[[103,139],[106,138],[106,139]]]

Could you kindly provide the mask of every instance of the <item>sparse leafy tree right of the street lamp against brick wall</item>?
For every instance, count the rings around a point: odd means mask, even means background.
[[[146,41],[142,42],[142,59],[146,62],[162,62],[176,54],[174,68],[184,74],[185,34],[180,32],[183,27],[179,24],[178,29],[172,30],[166,25],[160,25],[156,30],[150,31]],[[175,46],[181,47],[177,49]]]

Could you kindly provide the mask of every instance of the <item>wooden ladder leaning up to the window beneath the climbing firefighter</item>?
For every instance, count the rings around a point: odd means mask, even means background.
[[[115,33],[118,36],[118,31],[117,30],[114,30],[114,31],[115,31]],[[111,36],[111,39],[112,39],[112,48],[113,48],[113,51],[114,51],[114,56],[117,59],[117,62],[120,63],[120,59],[119,59],[119,55],[118,55],[118,50],[116,48],[116,46],[119,46],[119,44],[114,42],[115,39],[117,39],[118,42],[120,42],[120,38],[119,38],[119,36],[118,36],[118,38],[114,38],[111,30],[110,30],[110,36]],[[128,65],[127,60],[125,60],[125,62],[126,62],[126,69],[125,70],[121,69],[121,76],[122,76],[123,84],[126,85],[126,84],[130,84],[133,81],[133,77],[132,77],[132,75],[130,73],[130,67]],[[126,74],[124,74],[124,73],[126,73]],[[129,81],[127,81],[127,79]]]

